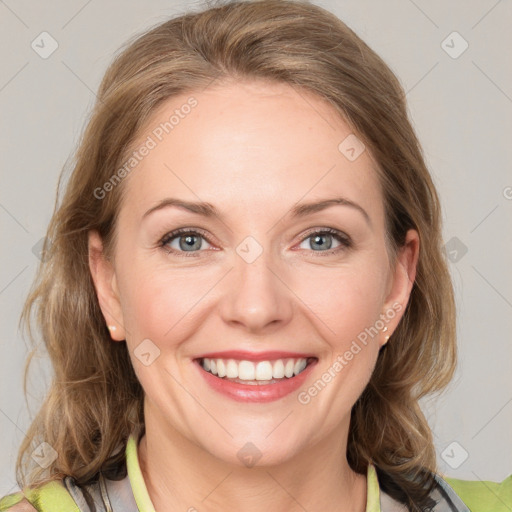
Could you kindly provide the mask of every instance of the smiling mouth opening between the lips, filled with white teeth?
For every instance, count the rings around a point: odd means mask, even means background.
[[[316,357],[287,357],[258,362],[207,357],[196,359],[205,372],[219,379],[252,386],[293,379],[316,361]]]

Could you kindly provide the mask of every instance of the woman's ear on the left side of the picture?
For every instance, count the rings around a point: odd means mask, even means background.
[[[105,257],[101,236],[94,230],[89,231],[89,269],[110,336],[123,341],[126,335],[114,266]]]

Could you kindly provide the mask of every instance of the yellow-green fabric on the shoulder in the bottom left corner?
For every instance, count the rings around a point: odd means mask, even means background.
[[[18,491],[0,499],[0,512],[79,512],[62,480]]]

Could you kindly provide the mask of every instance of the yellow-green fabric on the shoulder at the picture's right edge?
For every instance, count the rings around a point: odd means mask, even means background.
[[[512,510],[512,474],[502,482],[459,480],[443,477],[471,512],[510,512]]]

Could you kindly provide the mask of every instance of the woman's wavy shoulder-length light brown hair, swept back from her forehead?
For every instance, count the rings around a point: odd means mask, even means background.
[[[57,193],[45,257],[21,315],[34,340],[35,311],[55,374],[20,447],[18,484],[67,475],[91,481],[121,463],[129,434],[144,428],[143,390],[126,345],[110,339],[88,266],[90,230],[113,254],[124,182],[101,200],[94,191],[123,165],[163,101],[233,78],[286,83],[326,100],[377,163],[390,253],[396,255],[408,229],[419,233],[410,300],[353,407],[347,458],[358,473],[374,464],[383,490],[409,510],[424,510],[437,465],[418,401],[441,392],[456,365],[438,195],[393,72],[336,16],[293,0],[217,2],[190,11],[130,41],[106,71],[61,201]],[[25,366],[25,393],[36,349]],[[58,453],[46,470],[30,466],[42,441]]]

